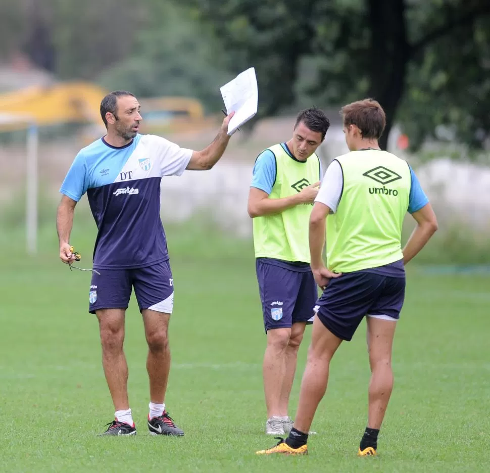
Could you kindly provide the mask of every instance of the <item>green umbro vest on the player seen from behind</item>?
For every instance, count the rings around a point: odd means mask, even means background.
[[[402,224],[408,210],[408,163],[386,151],[353,151],[336,158],[344,187],[326,223],[328,269],[352,272],[403,258]]]

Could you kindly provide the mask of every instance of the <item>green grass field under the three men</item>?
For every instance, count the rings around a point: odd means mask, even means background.
[[[364,324],[332,362],[310,454],[257,457],[274,440],[264,434],[265,336],[251,244],[168,230],[176,296],[166,403],[185,437],[152,437],[146,428],[146,348],[133,300],[125,351],[138,435],[99,438],[114,410],[97,324],[87,313],[90,274],[59,262],[49,231],[40,235],[37,258],[23,252],[21,233],[2,240],[1,471],[488,471],[490,277],[410,268],[378,457],[356,456],[369,380]],[[73,235],[82,267],[90,264],[93,235],[81,225]],[[292,415],[308,343],[309,334]]]

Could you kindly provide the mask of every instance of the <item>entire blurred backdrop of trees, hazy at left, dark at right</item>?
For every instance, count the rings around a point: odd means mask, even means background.
[[[490,136],[489,0],[2,0],[0,18],[1,56],[62,79],[216,111],[255,66],[261,117],[374,97],[413,149]]]

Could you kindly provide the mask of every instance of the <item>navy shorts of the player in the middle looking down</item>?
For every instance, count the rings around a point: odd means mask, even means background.
[[[313,323],[318,290],[311,271],[289,270],[259,259],[256,270],[266,333],[296,322]]]

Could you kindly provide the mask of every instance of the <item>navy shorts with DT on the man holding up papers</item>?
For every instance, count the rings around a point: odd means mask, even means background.
[[[171,314],[174,283],[169,261],[137,269],[97,269],[92,272],[88,311],[127,309],[132,288],[139,310],[152,309]]]

